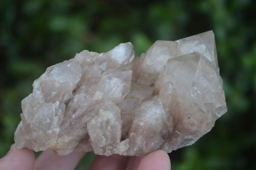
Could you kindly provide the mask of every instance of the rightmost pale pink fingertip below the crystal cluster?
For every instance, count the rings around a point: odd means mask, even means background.
[[[157,150],[141,160],[138,170],[171,170],[171,161],[166,152]]]

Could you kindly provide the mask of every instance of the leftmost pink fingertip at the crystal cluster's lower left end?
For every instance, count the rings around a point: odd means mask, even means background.
[[[0,170],[33,170],[35,155],[32,150],[13,149],[0,159]]]

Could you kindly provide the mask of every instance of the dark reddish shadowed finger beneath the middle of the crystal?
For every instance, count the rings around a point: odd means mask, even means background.
[[[90,170],[125,170],[129,157],[117,154],[111,156],[96,156]]]

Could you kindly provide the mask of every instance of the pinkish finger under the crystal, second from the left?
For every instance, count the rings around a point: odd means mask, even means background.
[[[36,159],[35,170],[74,170],[84,152],[73,152],[59,156],[52,150],[46,150]]]

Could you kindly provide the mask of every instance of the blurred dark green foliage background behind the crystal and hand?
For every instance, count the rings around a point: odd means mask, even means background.
[[[215,33],[228,112],[194,145],[170,153],[173,170],[255,170],[256,1],[0,1],[0,157],[14,142],[20,101],[48,66],[84,49]],[[80,161],[87,169],[93,153]],[[89,163],[88,163],[89,162]]]

